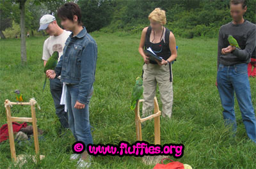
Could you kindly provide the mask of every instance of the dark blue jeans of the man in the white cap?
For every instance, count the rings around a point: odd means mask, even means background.
[[[60,124],[63,128],[68,128],[68,113],[65,112],[64,105],[60,105],[60,99],[62,94],[63,83],[60,82],[60,79],[54,78],[50,79],[50,89],[52,94],[52,99],[54,101],[54,107],[56,110],[56,115],[60,120]]]

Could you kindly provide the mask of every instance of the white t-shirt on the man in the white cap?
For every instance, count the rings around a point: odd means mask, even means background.
[[[65,47],[65,42],[67,41],[68,36],[70,35],[70,31],[63,31],[59,36],[50,36],[47,40],[44,41],[44,50],[43,57],[44,61],[48,61],[53,52],[59,52],[59,59],[63,54],[63,48]]]

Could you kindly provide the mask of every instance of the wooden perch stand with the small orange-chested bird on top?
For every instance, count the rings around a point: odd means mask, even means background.
[[[39,155],[39,144],[38,144],[38,133],[37,133],[37,126],[36,126],[35,104],[36,104],[36,101],[33,98],[30,99],[30,101],[28,103],[25,103],[25,102],[21,102],[21,103],[20,102],[17,102],[17,103],[16,102],[10,102],[10,100],[8,100],[8,99],[6,99],[6,101],[4,102],[4,107],[6,108],[6,117],[7,117],[9,138],[10,138],[10,149],[11,149],[12,159],[15,162],[17,161],[17,158],[16,158],[16,152],[15,152],[12,122],[32,122],[36,156]],[[11,114],[12,105],[30,105],[31,106],[31,115],[32,115],[32,117],[12,117],[12,114]]]

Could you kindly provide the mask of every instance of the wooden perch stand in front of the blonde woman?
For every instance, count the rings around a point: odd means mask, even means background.
[[[159,110],[159,106],[157,103],[156,97],[154,97],[154,114],[149,115],[145,118],[140,118],[140,102],[143,102],[144,99],[139,99],[136,103],[135,107],[135,124],[136,124],[136,138],[138,141],[142,141],[142,133],[141,133],[141,122],[148,121],[154,118],[154,131],[155,131],[155,145],[160,145],[160,115],[161,111]]]

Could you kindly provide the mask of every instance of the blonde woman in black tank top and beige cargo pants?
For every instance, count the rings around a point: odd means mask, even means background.
[[[156,86],[159,86],[163,103],[163,117],[172,116],[172,64],[177,57],[176,41],[173,33],[164,27],[166,24],[165,11],[156,8],[148,15],[150,26],[141,33],[139,52],[144,59],[143,65],[143,117],[152,112]],[[163,57],[162,61],[151,61],[144,53],[145,48],[152,48],[155,54]]]

